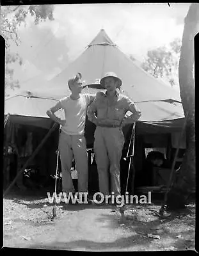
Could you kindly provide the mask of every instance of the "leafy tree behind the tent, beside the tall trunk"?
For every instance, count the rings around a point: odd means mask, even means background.
[[[141,67],[155,78],[165,77],[171,86],[177,83],[181,42],[175,38],[168,47],[158,47],[147,52]]]

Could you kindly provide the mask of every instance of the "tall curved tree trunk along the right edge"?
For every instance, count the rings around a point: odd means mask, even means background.
[[[168,192],[168,209],[184,207],[187,197],[195,192],[195,83],[193,79],[194,37],[199,31],[199,4],[191,4],[184,20],[184,32],[179,61],[180,97],[186,124],[186,153],[180,167],[180,176]]]

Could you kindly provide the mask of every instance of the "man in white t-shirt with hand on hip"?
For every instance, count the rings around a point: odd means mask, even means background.
[[[74,193],[71,177],[72,159],[74,156],[77,175],[78,192],[88,192],[88,159],[84,127],[88,105],[95,95],[81,94],[81,73],[68,80],[71,94],[47,111],[47,115],[61,125],[59,150],[61,158],[62,191]],[[54,113],[64,109],[65,120],[61,120]]]

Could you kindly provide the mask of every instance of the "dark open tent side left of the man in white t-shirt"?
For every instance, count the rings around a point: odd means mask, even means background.
[[[28,170],[38,173],[38,182],[54,174],[58,131],[56,125],[47,130],[33,125],[15,124],[11,116],[4,131],[3,176],[6,191],[13,184],[24,186],[24,176],[27,177]]]

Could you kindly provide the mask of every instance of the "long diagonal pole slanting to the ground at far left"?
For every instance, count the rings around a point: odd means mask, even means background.
[[[57,127],[57,123],[55,123],[54,125],[52,125],[51,129],[49,130],[49,132],[45,135],[44,139],[41,141],[40,145],[38,145],[38,147],[35,149],[35,151],[33,152],[33,154],[29,157],[29,159],[26,161],[26,163],[24,164],[24,166],[22,166],[22,168],[20,169],[20,171],[17,173],[15,179],[13,179],[12,183],[10,184],[10,186],[6,189],[6,191],[4,192],[3,196],[5,196],[8,191],[10,191],[10,189],[12,188],[13,184],[15,184],[16,180],[19,178],[19,175],[22,174],[22,172],[26,169],[26,167],[28,166],[28,164],[33,160],[33,158],[36,156],[36,154],[38,153],[38,151],[42,148],[42,146],[44,145],[45,141],[47,140],[47,138],[49,138],[49,136],[51,135],[52,131],[54,131],[54,129],[56,129]]]

